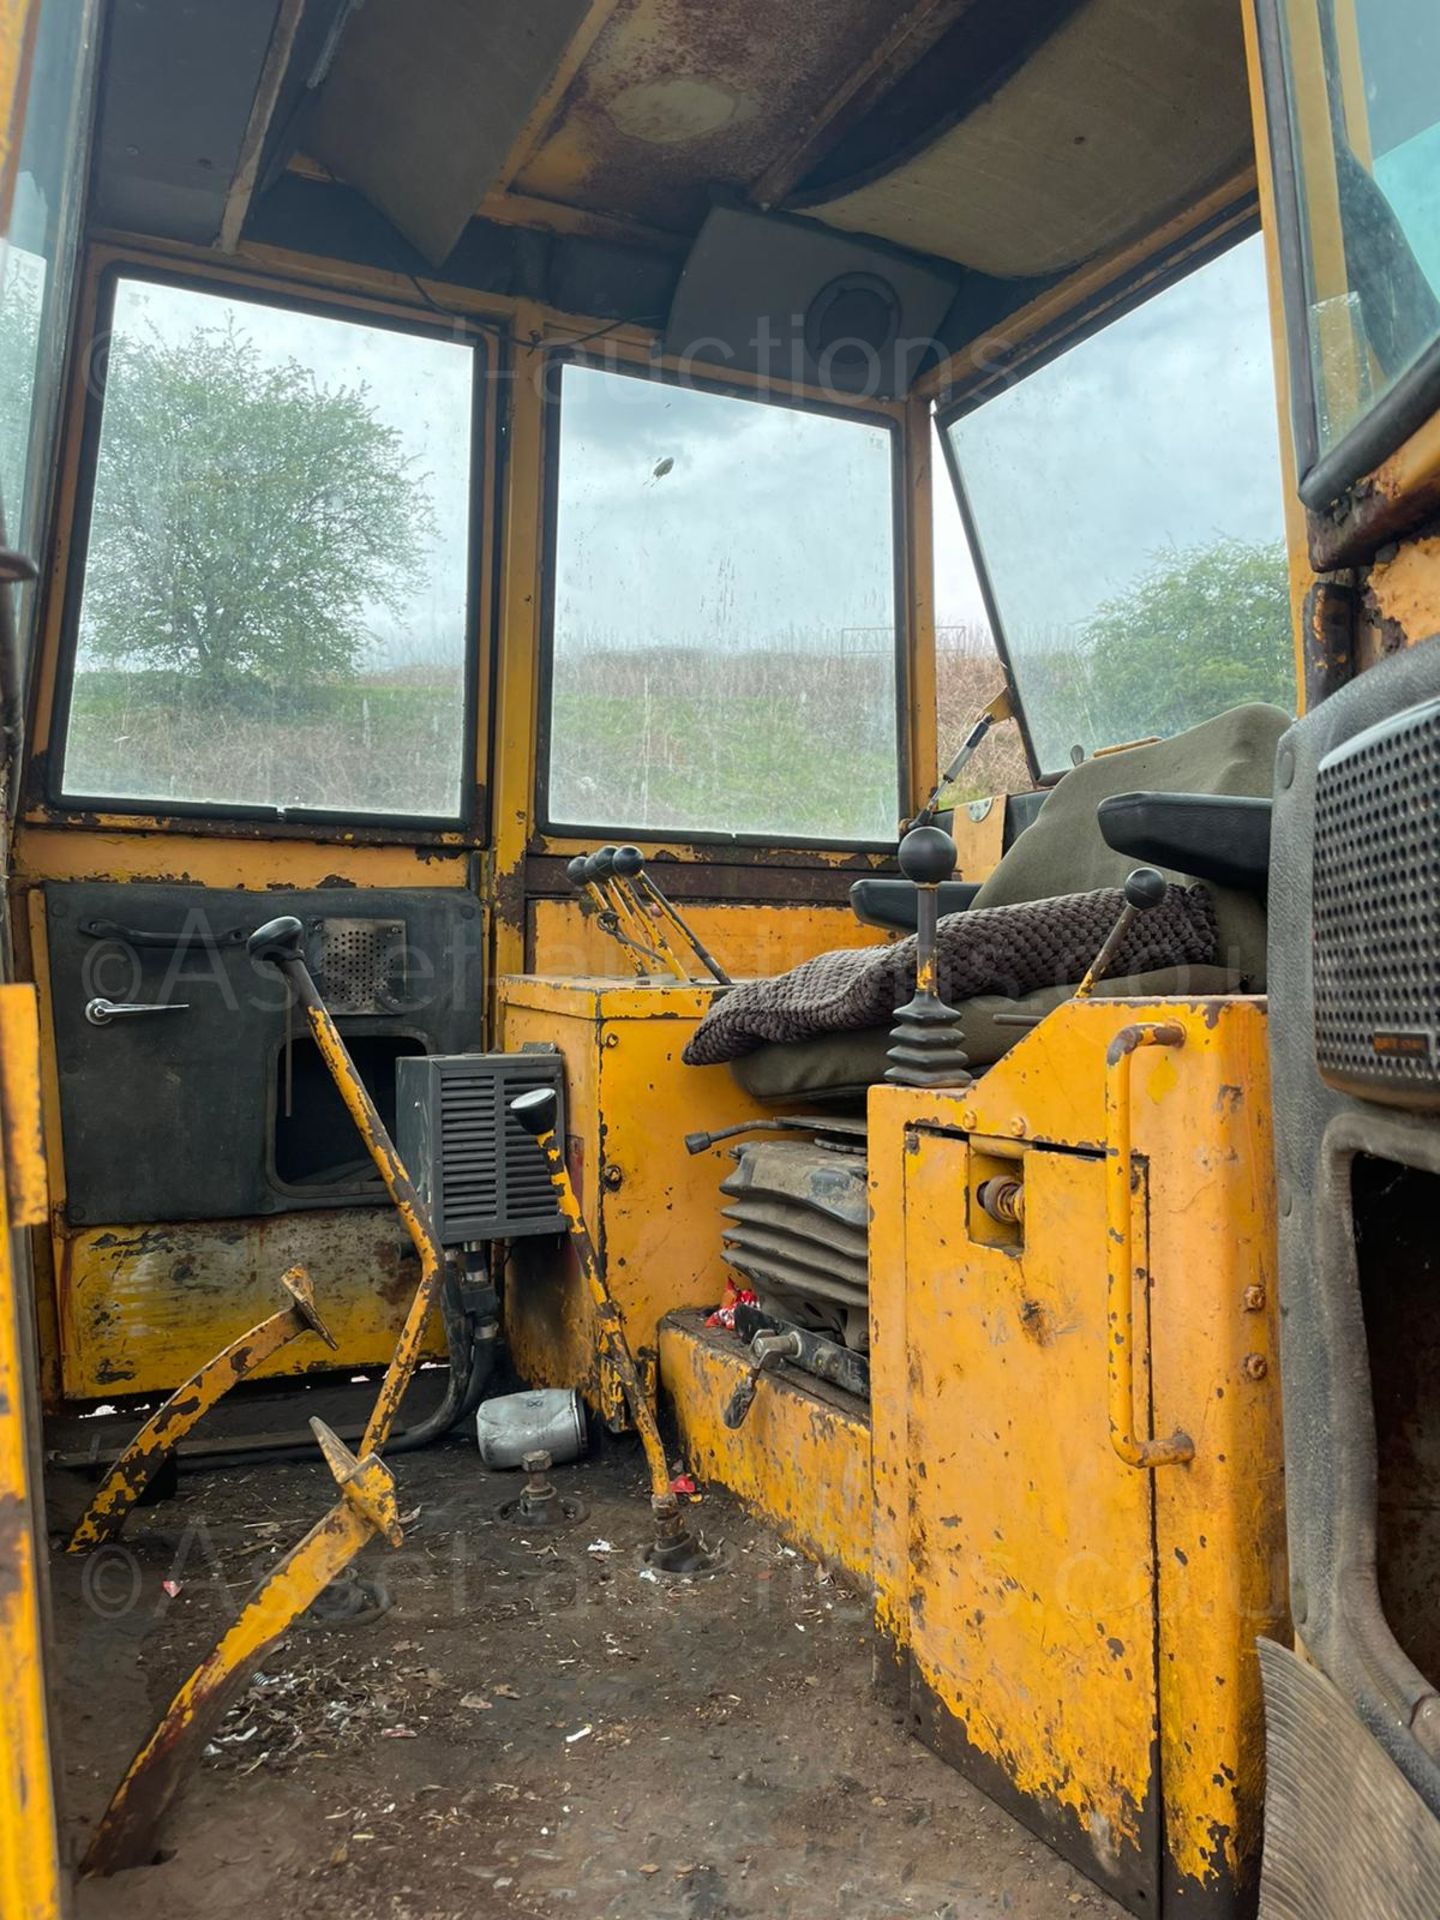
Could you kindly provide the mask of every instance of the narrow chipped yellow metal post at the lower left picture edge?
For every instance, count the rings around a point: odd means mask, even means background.
[[[27,987],[0,987],[10,1048],[21,1021],[35,1023]],[[29,1041],[33,1052],[35,1039]],[[6,1131],[38,1139],[38,1102],[31,1085],[27,1112],[10,1073],[4,1085]],[[44,1674],[42,1567],[36,1532],[35,1405],[29,1354],[33,1325],[25,1267],[17,1252],[13,1194],[33,1187],[23,1175],[0,1187],[0,1914],[6,1920],[60,1920],[61,1868]]]

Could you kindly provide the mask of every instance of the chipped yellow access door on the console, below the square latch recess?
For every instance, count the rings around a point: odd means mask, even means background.
[[[1104,1169],[1029,1152],[1016,1256],[968,1236],[968,1150],[924,1131],[904,1156],[912,1690],[943,1751],[1144,1885],[1150,1482],[1110,1446]]]

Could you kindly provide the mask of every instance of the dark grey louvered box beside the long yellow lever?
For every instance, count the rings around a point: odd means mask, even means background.
[[[444,1246],[564,1233],[545,1156],[511,1114],[536,1087],[563,1094],[557,1054],[430,1054],[396,1068],[396,1146]],[[564,1110],[559,1135],[564,1139]]]

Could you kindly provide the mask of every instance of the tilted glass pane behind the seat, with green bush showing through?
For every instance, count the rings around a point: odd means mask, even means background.
[[[1043,772],[1294,705],[1260,238],[948,426]]]

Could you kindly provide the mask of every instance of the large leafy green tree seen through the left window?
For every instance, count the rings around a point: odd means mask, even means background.
[[[234,326],[115,340],[83,645],[204,693],[357,670],[399,614],[430,497],[365,386],[273,365]]]

